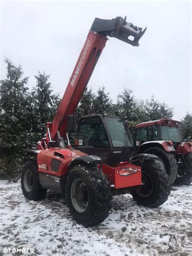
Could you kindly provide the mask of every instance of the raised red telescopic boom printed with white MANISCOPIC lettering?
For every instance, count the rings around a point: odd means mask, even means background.
[[[89,32],[53,122],[47,124],[53,141],[57,139],[57,130],[60,131],[61,137],[64,137],[67,128],[67,116],[75,112],[107,40],[105,36],[92,31]],[[46,143],[48,144],[48,142],[47,133]]]

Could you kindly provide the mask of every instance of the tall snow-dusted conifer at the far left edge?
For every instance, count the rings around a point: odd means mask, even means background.
[[[4,173],[14,179],[25,155],[23,148],[28,143],[28,77],[23,78],[21,65],[15,66],[8,58],[5,63],[6,79],[0,81],[0,154]]]

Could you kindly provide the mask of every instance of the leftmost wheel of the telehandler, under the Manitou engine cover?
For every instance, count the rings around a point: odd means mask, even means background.
[[[36,161],[29,161],[24,165],[21,173],[21,189],[27,199],[34,201],[43,199],[47,194],[47,190],[39,183]]]

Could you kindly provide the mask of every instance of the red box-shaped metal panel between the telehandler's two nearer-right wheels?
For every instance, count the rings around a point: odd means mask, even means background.
[[[130,168],[137,170],[137,172],[124,176],[124,173],[127,172],[125,169]],[[141,167],[128,162],[113,167],[108,166],[107,164],[102,164],[102,171],[103,173],[107,174],[108,181],[112,185],[115,185],[115,189],[138,186],[142,184]]]

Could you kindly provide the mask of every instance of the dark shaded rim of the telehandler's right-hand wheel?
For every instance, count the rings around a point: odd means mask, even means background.
[[[137,189],[136,192],[141,197],[148,197],[153,191],[153,181],[150,175],[146,172],[142,173],[142,183],[141,188]]]

